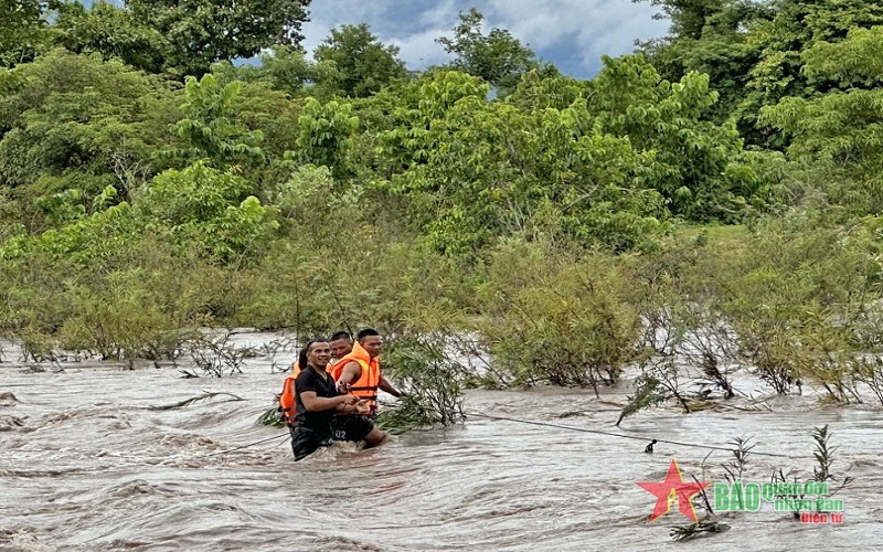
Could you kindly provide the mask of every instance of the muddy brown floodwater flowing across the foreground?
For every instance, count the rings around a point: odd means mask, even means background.
[[[258,346],[274,336],[240,333]],[[0,363],[0,551],[54,550],[880,550],[883,424],[879,405],[823,407],[810,393],[775,397],[751,376],[742,397],[684,415],[672,405],[614,426],[628,386],[469,391],[466,410],[638,436],[471,416],[360,452],[338,444],[295,464],[285,429],[256,426],[294,352],[248,359],[242,374],[182,379],[171,367],[127,370],[83,361],[32,365],[3,344]],[[61,369],[61,370],[60,370]],[[232,393],[150,410],[204,391]],[[869,395],[870,399],[870,395]],[[571,413],[562,417],[563,414]],[[574,415],[577,413],[578,415]],[[683,477],[722,481],[727,447],[751,435],[744,480],[774,469],[812,475],[815,426],[838,446],[832,474],[854,478],[836,498],[842,524],[802,524],[765,503],[720,513],[730,530],[678,543],[673,507],[648,522],[672,458]],[[265,443],[230,449],[262,439]],[[709,456],[709,453],[711,455]],[[713,501],[713,493],[709,492]],[[700,516],[703,514],[699,510]]]

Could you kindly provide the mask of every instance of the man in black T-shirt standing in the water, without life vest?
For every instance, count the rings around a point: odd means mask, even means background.
[[[369,412],[368,404],[360,402],[355,395],[338,392],[334,379],[326,371],[330,358],[331,347],[323,339],[308,342],[301,354],[300,364],[306,368],[295,381],[297,414],[291,428],[291,449],[296,461],[331,444],[334,414],[347,414],[347,418],[351,418],[348,425],[358,426],[354,433],[359,435],[354,435],[354,440],[364,439],[369,446],[383,440],[383,433],[363,415]]]

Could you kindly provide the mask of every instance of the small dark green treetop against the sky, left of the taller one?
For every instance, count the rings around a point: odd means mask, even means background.
[[[396,78],[407,76],[405,64],[396,57],[398,46],[384,45],[366,23],[342,25],[316,47],[318,62],[334,62],[340,72],[342,93],[368,97]]]

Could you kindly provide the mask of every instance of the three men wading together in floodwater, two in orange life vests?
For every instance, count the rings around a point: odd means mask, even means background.
[[[370,448],[386,439],[375,425],[377,391],[402,393],[381,373],[382,349],[383,338],[371,328],[355,342],[345,331],[307,342],[279,395],[295,461],[334,440],[364,442]]]

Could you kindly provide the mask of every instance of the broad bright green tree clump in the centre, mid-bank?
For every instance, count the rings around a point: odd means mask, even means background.
[[[627,248],[659,229],[661,197],[636,180],[650,156],[602,134],[585,103],[525,112],[489,102],[487,86],[457,72],[425,77],[384,136],[384,155],[405,170],[383,190],[407,198],[408,220],[434,247],[471,254],[545,225]]]

